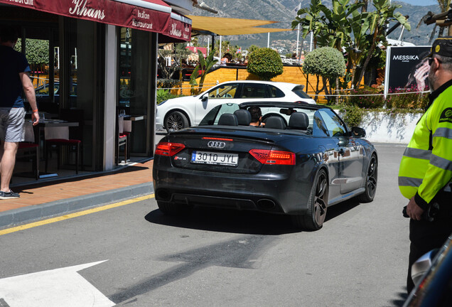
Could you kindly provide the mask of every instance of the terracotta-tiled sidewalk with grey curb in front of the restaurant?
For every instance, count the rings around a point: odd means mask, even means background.
[[[153,163],[13,188],[21,197],[0,200],[0,228],[153,193]]]

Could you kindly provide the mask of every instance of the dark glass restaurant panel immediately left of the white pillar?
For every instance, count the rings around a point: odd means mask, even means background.
[[[60,62],[65,65],[65,77],[58,82],[63,82],[63,87],[59,85],[59,115],[61,119],[78,123],[70,127],[70,138],[82,141],[83,163],[87,170],[94,171],[95,146],[99,146],[96,125],[101,124],[94,119],[94,114],[100,103],[98,94],[102,92],[99,75],[103,72],[98,67],[103,58],[97,53],[102,49],[102,31],[98,23],[75,18],[65,18],[64,28],[66,48]]]

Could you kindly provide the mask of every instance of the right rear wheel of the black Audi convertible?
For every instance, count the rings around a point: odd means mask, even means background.
[[[295,227],[303,230],[319,230],[323,226],[328,207],[328,176],[321,169],[311,188],[308,200],[308,211],[304,215],[292,215]]]

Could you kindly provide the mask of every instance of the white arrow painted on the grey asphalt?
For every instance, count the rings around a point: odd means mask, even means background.
[[[0,279],[0,299],[10,307],[112,307],[112,301],[77,273],[105,261]]]

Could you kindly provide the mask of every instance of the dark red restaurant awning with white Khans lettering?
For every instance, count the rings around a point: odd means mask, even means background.
[[[190,23],[173,21],[171,6],[161,0],[0,0],[0,3],[190,40]]]

